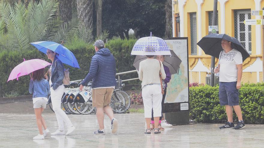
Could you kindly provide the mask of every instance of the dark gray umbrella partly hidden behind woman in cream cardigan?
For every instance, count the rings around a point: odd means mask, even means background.
[[[170,74],[178,74],[182,60],[173,52],[173,50],[170,50],[170,53],[171,53],[171,56],[164,55],[163,64],[170,69]],[[134,60],[133,66],[137,70],[139,70],[139,63],[145,59],[147,59],[146,56],[137,55]]]

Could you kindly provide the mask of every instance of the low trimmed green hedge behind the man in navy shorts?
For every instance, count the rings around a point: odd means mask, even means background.
[[[219,86],[190,87],[190,118],[196,122],[213,123],[227,120],[218,98]],[[264,123],[264,83],[243,84],[239,89],[239,105],[245,123]],[[237,116],[233,111],[233,119]]]

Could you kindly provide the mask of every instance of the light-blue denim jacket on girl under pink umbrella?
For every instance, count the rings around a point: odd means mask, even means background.
[[[29,93],[33,94],[33,98],[36,97],[48,97],[50,93],[49,82],[46,79],[40,81],[30,79]]]

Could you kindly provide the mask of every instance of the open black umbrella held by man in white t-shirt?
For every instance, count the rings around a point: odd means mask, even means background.
[[[223,48],[221,46],[222,39],[232,42],[231,48],[234,48],[241,52],[243,62],[245,59],[247,59],[247,57],[249,57],[248,52],[241,45],[241,43],[236,38],[230,37],[226,34],[211,33],[203,37],[197,43],[197,45],[199,45],[202,48],[205,54],[219,58],[220,52],[223,51]]]

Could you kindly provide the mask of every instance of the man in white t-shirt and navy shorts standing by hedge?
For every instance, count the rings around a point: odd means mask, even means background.
[[[239,106],[238,89],[241,87],[242,54],[231,48],[231,42],[222,39],[223,51],[219,55],[219,64],[214,73],[219,72],[219,100],[220,105],[225,106],[228,121],[220,129],[242,129],[245,127],[241,108]],[[220,68],[221,67],[221,68]],[[238,117],[238,124],[233,123],[233,109]]]

